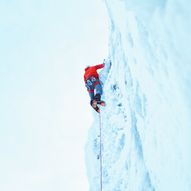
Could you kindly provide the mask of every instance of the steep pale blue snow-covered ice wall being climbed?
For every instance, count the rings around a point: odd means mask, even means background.
[[[101,72],[104,191],[191,190],[191,1],[105,0],[109,58]],[[112,64],[109,64],[111,60]],[[99,117],[86,144],[100,190]]]

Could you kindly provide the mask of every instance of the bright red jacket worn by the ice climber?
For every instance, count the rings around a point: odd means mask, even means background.
[[[97,70],[101,69],[103,67],[104,67],[104,64],[98,64],[96,66],[89,66],[89,67],[85,68],[84,81],[86,82],[86,80],[91,76],[99,79]]]

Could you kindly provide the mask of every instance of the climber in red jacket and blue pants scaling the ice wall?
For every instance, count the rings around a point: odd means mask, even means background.
[[[95,66],[87,66],[85,68],[85,74],[84,74],[84,82],[90,96],[90,105],[98,113],[100,112],[100,109],[97,106],[97,104],[105,106],[105,102],[101,100],[101,95],[103,93],[103,90],[97,70],[103,68],[104,65],[105,64],[103,63]]]

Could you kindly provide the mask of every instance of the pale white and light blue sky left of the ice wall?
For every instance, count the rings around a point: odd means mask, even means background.
[[[0,2],[0,190],[88,190],[85,65],[107,57],[101,0]]]

